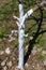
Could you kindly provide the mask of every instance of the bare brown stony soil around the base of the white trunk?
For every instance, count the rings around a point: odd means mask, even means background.
[[[6,44],[7,46],[4,48],[0,48],[0,70],[18,70],[16,69],[18,65],[18,47],[12,47],[10,43]],[[5,50],[10,47],[10,54],[5,53]],[[1,52],[3,53],[1,54]],[[46,65],[44,65],[43,60],[37,59],[37,53],[33,50],[31,55],[29,56],[27,62],[25,64],[24,70],[46,70]],[[4,65],[1,65],[3,61]],[[10,64],[11,61],[11,64]]]

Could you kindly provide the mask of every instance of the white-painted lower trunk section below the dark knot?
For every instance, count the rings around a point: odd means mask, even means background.
[[[18,68],[24,68],[24,41],[25,41],[25,30],[19,29],[19,45],[18,45],[18,54],[19,54],[19,62],[18,62]]]

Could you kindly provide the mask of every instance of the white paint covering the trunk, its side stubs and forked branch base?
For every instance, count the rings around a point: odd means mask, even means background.
[[[24,42],[25,42],[25,20],[33,13],[33,10],[29,10],[24,15],[24,4],[19,3],[19,18],[14,16],[17,19],[16,24],[18,26],[18,69],[24,68]]]

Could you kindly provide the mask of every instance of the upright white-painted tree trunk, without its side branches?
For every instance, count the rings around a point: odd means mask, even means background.
[[[25,41],[25,19],[24,17],[24,4],[19,3],[19,27],[18,27],[18,68],[24,68],[24,41]]]

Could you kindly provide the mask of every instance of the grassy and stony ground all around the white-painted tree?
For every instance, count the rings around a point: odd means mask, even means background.
[[[0,70],[16,70],[18,65],[18,34],[15,37],[15,40],[11,42],[10,38],[5,36],[10,34],[11,30],[18,29],[16,20],[13,18],[13,13],[18,16],[18,5],[16,5],[17,0],[16,3],[12,1],[14,6],[12,2],[9,5],[4,3],[3,6],[3,2],[6,0],[0,0],[2,4],[0,6]],[[29,6],[30,3],[32,2],[29,1],[29,4],[26,3],[26,5]],[[26,5],[25,12],[30,9],[30,6],[27,9]],[[25,56],[27,55],[25,60],[27,61],[24,70],[46,70],[46,11],[43,10],[43,16],[40,16],[40,10],[33,15],[26,22],[26,33],[28,32],[29,36],[25,39]]]

